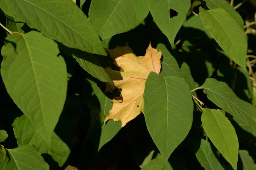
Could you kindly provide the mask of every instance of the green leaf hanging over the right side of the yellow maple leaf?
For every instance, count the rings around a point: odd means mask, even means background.
[[[148,131],[166,163],[192,125],[189,85],[181,77],[163,77],[151,72],[145,84],[144,100]]]

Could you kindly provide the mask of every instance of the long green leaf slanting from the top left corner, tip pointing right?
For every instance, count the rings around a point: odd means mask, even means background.
[[[0,8],[67,47],[107,55],[92,24],[71,0],[1,0]]]

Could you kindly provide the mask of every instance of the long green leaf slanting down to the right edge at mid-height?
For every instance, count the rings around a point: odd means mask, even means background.
[[[256,129],[256,108],[239,99],[226,83],[208,78],[201,88],[215,105]]]

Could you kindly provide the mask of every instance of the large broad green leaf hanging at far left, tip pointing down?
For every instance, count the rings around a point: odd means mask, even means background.
[[[67,93],[67,68],[58,46],[39,32],[9,35],[2,48],[6,90],[47,144]]]

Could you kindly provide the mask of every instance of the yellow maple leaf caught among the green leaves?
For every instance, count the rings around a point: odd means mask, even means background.
[[[126,123],[143,112],[145,82],[151,71],[160,73],[162,53],[152,48],[151,44],[149,44],[145,56],[139,57],[133,54],[128,45],[106,49],[106,51],[114,60],[114,64],[122,68],[123,71],[105,68],[114,85],[122,89],[121,95],[111,100],[113,107],[105,122],[109,119],[121,120],[122,127],[124,127]]]

